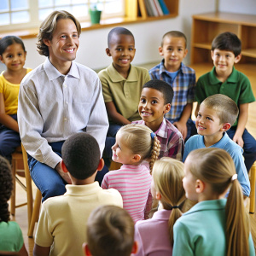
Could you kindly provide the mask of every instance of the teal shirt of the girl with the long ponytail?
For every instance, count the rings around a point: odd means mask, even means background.
[[[201,201],[178,218],[173,227],[173,256],[225,256],[226,199]],[[250,256],[255,255],[249,236]]]

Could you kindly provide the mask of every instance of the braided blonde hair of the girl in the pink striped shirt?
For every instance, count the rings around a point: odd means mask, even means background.
[[[132,154],[140,154],[140,161],[149,160],[149,169],[152,172],[154,161],[160,154],[160,142],[154,132],[146,125],[136,124],[125,125],[118,132],[124,133],[123,141]]]

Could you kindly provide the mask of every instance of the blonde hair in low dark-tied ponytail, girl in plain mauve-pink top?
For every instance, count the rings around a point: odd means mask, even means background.
[[[166,210],[172,212],[169,217],[169,237],[173,245],[173,225],[177,218],[182,216],[184,201],[186,200],[185,191],[183,189],[183,162],[163,157],[155,161],[152,172],[154,180],[154,188],[161,195],[160,202]]]

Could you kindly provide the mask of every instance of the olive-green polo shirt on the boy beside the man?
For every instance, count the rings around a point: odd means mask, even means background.
[[[98,75],[102,82],[104,101],[113,102],[117,112],[129,121],[141,119],[137,107],[143,85],[150,80],[148,69],[131,66],[125,79],[111,64]]]

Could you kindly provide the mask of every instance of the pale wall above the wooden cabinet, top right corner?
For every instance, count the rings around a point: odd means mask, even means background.
[[[218,9],[221,12],[256,15],[255,0],[219,0]]]

